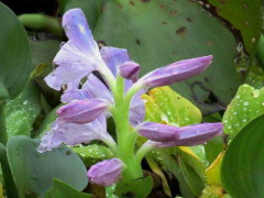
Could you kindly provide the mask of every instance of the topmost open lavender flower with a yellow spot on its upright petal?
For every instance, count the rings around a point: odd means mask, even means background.
[[[78,88],[81,78],[103,67],[103,62],[80,9],[73,9],[64,14],[63,28],[69,41],[54,58],[54,64],[58,67],[45,80],[56,90],[59,90],[63,84],[70,90]]]

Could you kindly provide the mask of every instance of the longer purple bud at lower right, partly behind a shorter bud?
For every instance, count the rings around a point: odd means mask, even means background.
[[[201,123],[179,128],[179,139],[170,142],[160,142],[156,147],[193,146],[205,144],[215,136],[222,135],[222,123]]]

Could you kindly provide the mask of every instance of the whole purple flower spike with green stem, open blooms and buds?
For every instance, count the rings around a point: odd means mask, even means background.
[[[141,99],[148,88],[199,75],[211,64],[212,56],[176,62],[139,78],[141,67],[131,61],[127,50],[109,46],[99,50],[80,9],[66,12],[63,26],[69,41],[54,59],[58,67],[45,80],[56,90],[66,85],[62,101],[67,105],[57,110],[58,117],[42,138],[38,152],[61,144],[100,140],[116,157],[91,166],[88,177],[91,183],[109,186],[120,178],[142,177],[141,161],[154,147],[198,145],[222,134],[221,123],[176,128],[144,121]],[[105,82],[91,73],[94,70],[99,72]],[[79,88],[84,78],[87,79]],[[114,120],[117,141],[107,132],[108,117]],[[140,135],[148,141],[135,150]]]

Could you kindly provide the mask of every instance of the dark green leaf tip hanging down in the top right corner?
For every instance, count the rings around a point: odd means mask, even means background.
[[[220,16],[240,31],[246,51],[253,53],[262,30],[260,0],[208,0]]]

